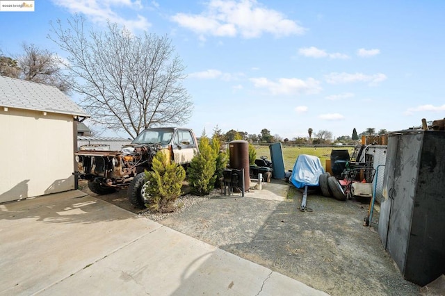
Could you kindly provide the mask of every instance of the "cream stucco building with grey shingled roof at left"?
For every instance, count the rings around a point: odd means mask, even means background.
[[[77,124],[86,117],[53,86],[0,76],[0,202],[76,188]]]

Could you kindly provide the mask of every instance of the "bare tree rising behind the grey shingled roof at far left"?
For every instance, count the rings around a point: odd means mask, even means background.
[[[17,58],[20,68],[19,78],[53,85],[67,92],[67,84],[62,76],[62,60],[47,49],[39,49],[34,44],[22,44],[24,54]]]

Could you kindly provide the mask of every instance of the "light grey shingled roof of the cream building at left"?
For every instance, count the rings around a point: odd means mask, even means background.
[[[89,117],[54,86],[6,76],[0,76],[0,106]]]

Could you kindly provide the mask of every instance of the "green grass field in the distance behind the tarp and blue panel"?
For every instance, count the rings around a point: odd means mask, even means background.
[[[268,160],[270,160],[270,151],[268,145],[255,145],[255,149],[257,149],[257,158],[260,156],[267,156]],[[352,154],[354,151],[354,147],[344,146],[344,147],[299,147],[299,146],[287,146],[282,145],[283,150],[283,158],[284,158],[284,169],[286,172],[288,170],[293,169],[293,165],[300,154],[308,154],[317,156],[320,158],[321,165],[325,167],[325,160],[330,159],[332,149],[335,150],[344,150],[348,149],[349,154]],[[326,167],[325,167],[326,168]]]

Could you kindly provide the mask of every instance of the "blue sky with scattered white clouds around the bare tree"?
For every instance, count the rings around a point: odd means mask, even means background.
[[[47,35],[50,22],[74,14],[96,29],[109,19],[135,35],[168,35],[193,99],[184,126],[197,135],[268,129],[291,140],[311,128],[337,138],[445,117],[442,0],[33,3],[30,12],[0,11],[4,55],[19,54],[26,42],[66,56]]]

